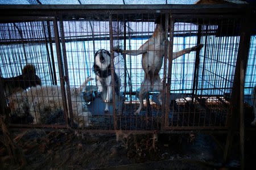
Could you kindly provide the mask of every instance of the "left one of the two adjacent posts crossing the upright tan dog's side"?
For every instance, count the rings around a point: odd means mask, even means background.
[[[165,14],[165,28],[164,28],[164,71],[163,71],[163,103],[162,103],[162,111],[161,111],[161,130],[164,130],[166,126],[166,122],[168,116],[166,117],[166,113],[164,114],[164,107],[169,107],[169,103],[166,103],[166,72],[167,72],[167,57],[168,57],[168,26],[169,26],[169,14]],[[170,94],[167,93],[167,96]],[[164,116],[165,115],[165,116]]]

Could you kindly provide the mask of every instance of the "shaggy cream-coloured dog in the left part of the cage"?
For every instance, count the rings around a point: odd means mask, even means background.
[[[84,108],[81,91],[86,84],[92,80],[87,78],[79,88],[71,87],[71,101],[73,120],[79,127],[89,126],[91,113]],[[67,94],[67,91],[66,91]],[[21,92],[9,97],[11,114],[19,114],[20,117],[27,115],[27,109],[34,118],[33,124],[43,124],[42,117],[47,113],[54,113],[63,110],[63,100],[60,86],[36,86],[31,87],[27,92]],[[86,107],[86,105],[85,105]],[[69,113],[68,113],[69,114]]]

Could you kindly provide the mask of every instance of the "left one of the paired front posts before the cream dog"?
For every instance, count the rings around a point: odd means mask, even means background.
[[[66,103],[66,95],[65,95],[65,85],[64,85],[64,68],[63,68],[63,61],[61,59],[61,49],[60,49],[60,37],[59,37],[59,29],[57,25],[57,20],[53,20],[53,29],[55,34],[55,45],[56,45],[56,53],[57,53],[57,61],[59,67],[59,76],[60,76],[60,88],[61,88],[61,97],[63,101],[63,110],[64,110],[64,117],[65,117],[65,124],[68,126],[68,108]]]

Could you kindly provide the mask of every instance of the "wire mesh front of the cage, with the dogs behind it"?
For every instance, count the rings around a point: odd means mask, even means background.
[[[242,17],[69,12],[0,24],[1,82],[11,125],[226,128]],[[244,90],[251,113],[255,83],[251,36]]]

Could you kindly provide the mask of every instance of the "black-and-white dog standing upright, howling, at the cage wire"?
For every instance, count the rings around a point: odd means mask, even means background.
[[[102,92],[102,100],[106,103],[105,112],[109,111],[109,102],[112,97],[112,77],[110,53],[105,49],[98,50],[94,55],[93,71],[96,74],[98,92]],[[119,79],[114,73],[115,95],[119,95]],[[117,97],[116,97],[117,98]]]

